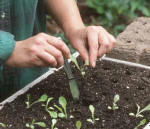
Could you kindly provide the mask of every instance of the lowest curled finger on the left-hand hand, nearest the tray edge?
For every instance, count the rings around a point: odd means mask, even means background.
[[[50,55],[47,52],[40,52],[38,57],[43,60],[43,63],[49,64],[51,67],[57,67],[57,61],[54,56]]]

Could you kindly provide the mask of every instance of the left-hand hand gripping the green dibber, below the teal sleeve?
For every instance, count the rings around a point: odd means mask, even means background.
[[[5,64],[12,67],[60,67],[64,64],[64,56],[69,58],[70,50],[62,40],[40,33],[16,42],[14,51]]]

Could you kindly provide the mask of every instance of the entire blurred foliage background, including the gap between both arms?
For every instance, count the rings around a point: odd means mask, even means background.
[[[135,18],[150,17],[150,0],[77,0],[85,25],[101,25],[117,36]],[[61,37],[71,48],[63,31],[51,17],[47,19],[48,32]]]

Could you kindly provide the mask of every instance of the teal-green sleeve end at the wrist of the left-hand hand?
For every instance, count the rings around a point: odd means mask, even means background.
[[[11,55],[15,47],[14,36],[8,32],[0,31],[0,65]]]

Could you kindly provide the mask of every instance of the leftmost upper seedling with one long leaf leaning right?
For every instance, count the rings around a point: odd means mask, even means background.
[[[44,94],[38,100],[36,100],[30,104],[30,95],[28,94],[27,95],[27,102],[26,102],[27,108],[29,109],[31,106],[33,106],[36,103],[45,102],[47,100],[47,98],[48,98],[48,96],[46,94]]]

